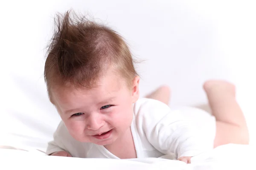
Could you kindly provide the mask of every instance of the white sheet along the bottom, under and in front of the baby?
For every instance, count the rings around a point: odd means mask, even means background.
[[[192,158],[191,164],[181,161],[148,159],[81,159],[46,156],[36,150],[22,151],[0,149],[0,169],[50,170],[50,169],[104,169],[104,170],[227,170],[256,169],[250,145],[227,144],[215,148],[212,153]],[[51,165],[50,165],[51,164]]]

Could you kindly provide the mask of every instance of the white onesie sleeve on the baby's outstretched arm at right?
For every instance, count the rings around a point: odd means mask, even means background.
[[[136,109],[146,138],[160,152],[174,153],[180,158],[206,151],[198,130],[185,121],[179,111],[171,111],[168,105],[153,99]]]

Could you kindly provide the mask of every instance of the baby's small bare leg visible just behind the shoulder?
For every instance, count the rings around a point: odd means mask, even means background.
[[[161,86],[157,90],[153,91],[151,94],[145,96],[145,98],[159,100],[160,102],[169,105],[170,102],[170,88],[168,86]]]

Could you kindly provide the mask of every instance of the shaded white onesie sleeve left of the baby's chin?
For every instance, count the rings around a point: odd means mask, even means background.
[[[48,143],[46,150],[47,155],[50,155],[58,151],[66,151],[64,144],[61,142],[61,133],[64,130],[63,126],[63,122],[61,122],[58,125],[57,130],[53,134],[53,140]]]

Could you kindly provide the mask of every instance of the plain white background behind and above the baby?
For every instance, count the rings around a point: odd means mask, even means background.
[[[167,84],[171,107],[199,105],[207,79],[235,83],[256,143],[253,0],[1,0],[0,7],[1,133],[42,146],[52,137],[59,117],[44,85],[45,47],[54,14],[73,8],[118,31],[145,60],[137,65],[142,96]]]

